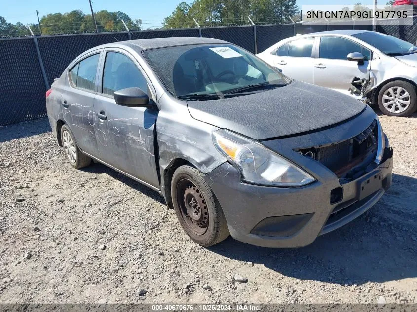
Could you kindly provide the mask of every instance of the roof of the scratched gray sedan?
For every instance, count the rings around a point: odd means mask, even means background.
[[[172,37],[172,38],[155,38],[155,39],[138,39],[129,41],[119,41],[107,43],[97,48],[113,48],[113,47],[130,47],[138,52],[148,49],[165,48],[172,46],[181,46],[189,44],[207,44],[207,43],[229,43],[227,41],[213,38],[196,38],[196,37]]]

